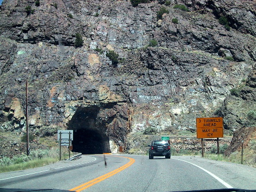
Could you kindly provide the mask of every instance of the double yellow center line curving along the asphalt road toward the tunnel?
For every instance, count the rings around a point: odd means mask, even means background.
[[[124,157],[124,156],[118,156],[118,157],[127,158],[127,157]],[[124,166],[121,166],[121,167],[117,168],[116,170],[108,172],[105,175],[99,176],[98,178],[95,178],[95,179],[93,179],[89,182],[83,183],[82,185],[74,187],[73,189],[70,189],[70,191],[79,192],[79,191],[85,190],[88,187],[91,187],[91,186],[95,185],[96,183],[101,182],[101,181],[105,180],[106,178],[109,178],[110,176],[113,176],[113,175],[117,174],[120,171],[123,171],[125,168],[128,168],[129,166],[131,166],[135,162],[135,159],[133,159],[133,158],[127,158],[127,159],[129,159],[130,161],[127,164],[125,164]]]

